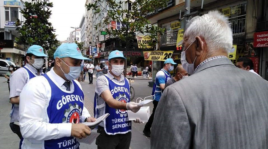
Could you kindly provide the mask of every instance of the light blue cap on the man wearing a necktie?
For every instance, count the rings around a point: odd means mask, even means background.
[[[77,44],[66,43],[61,44],[54,53],[55,58],[75,58],[79,60],[91,60],[82,56],[80,49]]]

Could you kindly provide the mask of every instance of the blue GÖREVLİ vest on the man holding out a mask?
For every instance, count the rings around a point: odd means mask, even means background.
[[[109,89],[113,96],[113,99],[116,99],[120,102],[129,103],[130,102],[130,86],[127,82],[127,79],[124,78],[124,85],[119,85],[110,80],[105,76],[109,83]],[[109,135],[115,134],[126,134],[131,131],[131,121],[128,120],[127,110],[119,110],[110,108],[107,104],[102,104],[97,106],[97,97],[95,93],[94,100],[94,116],[95,118],[99,117],[99,108],[105,107],[104,114],[109,113],[110,115],[104,121],[104,130]],[[101,115],[100,115],[101,116]]]

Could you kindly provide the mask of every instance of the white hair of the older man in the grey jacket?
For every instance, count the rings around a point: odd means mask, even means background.
[[[184,36],[188,37],[190,42],[193,42],[196,36],[204,38],[209,54],[219,49],[229,53],[233,46],[233,32],[228,18],[218,11],[192,18]]]

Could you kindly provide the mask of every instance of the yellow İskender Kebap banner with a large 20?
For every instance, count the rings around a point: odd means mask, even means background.
[[[143,51],[144,60],[165,61],[171,58],[173,51]]]

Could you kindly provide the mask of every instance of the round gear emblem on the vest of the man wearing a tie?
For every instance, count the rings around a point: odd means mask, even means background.
[[[77,103],[74,103],[74,105],[70,103],[69,108],[64,111],[62,122],[78,124],[81,120],[81,112],[82,108]]]

